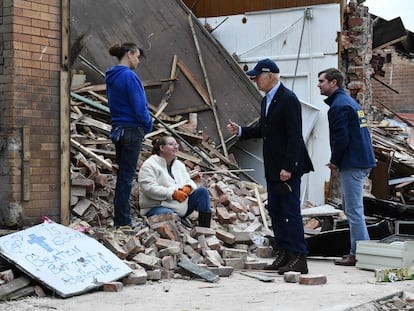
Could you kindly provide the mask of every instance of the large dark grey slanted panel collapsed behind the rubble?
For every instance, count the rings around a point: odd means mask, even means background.
[[[116,64],[108,48],[114,43],[136,42],[146,51],[137,72],[142,80],[157,80],[170,76],[174,55],[183,61],[197,81],[206,88],[193,35],[189,26],[190,12],[176,0],[108,0],[72,1],[72,40],[85,34],[81,55],[102,71]],[[259,116],[260,94],[247,79],[243,70],[213,37],[194,19],[194,26],[207,70],[211,91],[216,100],[218,119],[224,138],[228,138],[228,119],[248,124]],[[74,67],[82,68],[79,60]],[[88,78],[103,79],[83,66]],[[158,106],[168,83],[147,91],[149,102]],[[207,89],[207,88],[206,88]],[[180,73],[175,90],[165,112],[189,107],[205,106],[195,88]],[[220,143],[214,115],[211,110],[198,113],[198,129]]]

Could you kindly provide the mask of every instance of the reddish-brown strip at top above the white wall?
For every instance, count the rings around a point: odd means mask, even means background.
[[[341,0],[183,0],[198,17],[226,16],[246,12],[341,3]]]

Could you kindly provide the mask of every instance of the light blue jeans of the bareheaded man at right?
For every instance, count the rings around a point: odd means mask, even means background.
[[[363,186],[371,169],[348,168],[340,171],[342,207],[347,217],[351,238],[350,255],[356,253],[356,241],[369,240],[365,223]]]

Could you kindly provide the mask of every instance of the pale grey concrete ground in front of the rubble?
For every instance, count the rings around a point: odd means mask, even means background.
[[[414,294],[414,280],[376,283],[373,271],[335,266],[333,261],[308,260],[309,275],[325,275],[324,285],[286,283],[275,273],[271,274],[273,282],[262,282],[234,271],[217,283],[198,279],[148,282],[117,293],[97,291],[66,299],[29,297],[0,302],[0,310],[339,311],[400,291]]]

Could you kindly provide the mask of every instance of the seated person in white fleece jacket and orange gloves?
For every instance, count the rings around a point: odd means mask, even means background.
[[[152,155],[139,173],[139,205],[142,216],[176,213],[181,219],[198,211],[198,225],[210,227],[211,208],[208,190],[197,187],[180,160],[174,137],[164,136],[152,143]]]

